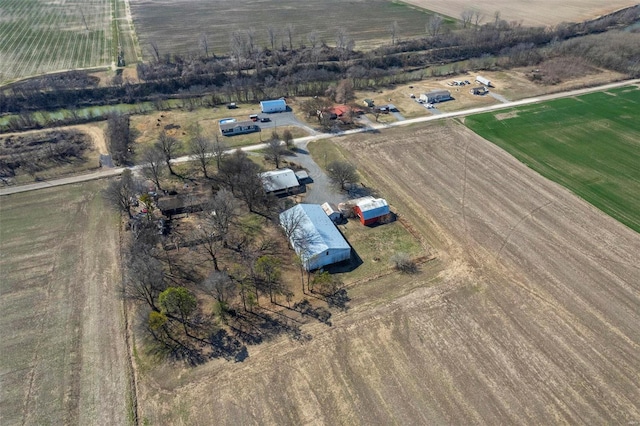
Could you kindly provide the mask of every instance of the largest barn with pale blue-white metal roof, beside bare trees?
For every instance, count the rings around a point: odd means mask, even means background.
[[[280,224],[289,228],[289,242],[307,271],[351,258],[349,243],[317,204],[298,204],[280,213]]]

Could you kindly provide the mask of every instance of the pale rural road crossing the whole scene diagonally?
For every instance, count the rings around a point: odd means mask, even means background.
[[[603,90],[615,89],[615,88],[618,88],[618,87],[630,86],[630,85],[635,85],[635,84],[640,84],[640,79],[624,80],[624,81],[619,81],[619,82],[616,82],[616,83],[609,83],[609,84],[604,84],[604,85],[595,86],[595,87],[589,87],[589,88],[585,88],[585,89],[569,90],[569,91],[565,91],[565,92],[553,93],[553,94],[550,94],[550,95],[536,96],[536,97],[533,97],[533,98],[526,98],[526,99],[521,99],[521,100],[518,100],[518,101],[500,103],[500,104],[490,105],[490,106],[480,107],[480,108],[470,108],[470,109],[466,109],[466,110],[462,110],[462,111],[447,112],[447,113],[442,113],[442,114],[438,114],[438,115],[431,115],[431,116],[427,116],[427,117],[412,118],[412,119],[409,119],[409,120],[396,121],[396,122],[393,122],[393,123],[385,123],[385,124],[371,123],[371,127],[367,127],[367,128],[364,128],[364,129],[353,129],[353,130],[347,130],[347,131],[340,132],[340,133],[317,133],[317,134],[314,134],[314,135],[311,135],[311,136],[305,136],[303,138],[297,138],[297,139],[294,140],[294,143],[296,145],[298,145],[298,146],[306,146],[307,143],[309,143],[311,141],[314,141],[314,140],[335,138],[335,137],[347,136],[347,135],[351,135],[351,134],[364,133],[364,132],[370,132],[370,131],[378,131],[378,130],[382,130],[382,129],[385,129],[385,128],[398,127],[398,126],[408,126],[408,125],[411,125],[411,124],[424,123],[424,122],[435,121],[435,120],[443,120],[443,119],[447,119],[447,118],[464,117],[464,116],[467,116],[467,115],[474,115],[474,114],[480,114],[480,113],[483,113],[483,112],[497,111],[497,110],[501,110],[501,109],[508,109],[508,108],[513,108],[513,107],[522,106],[522,105],[530,105],[530,104],[535,104],[535,103],[539,103],[539,102],[550,101],[550,100],[553,100],[553,99],[560,99],[560,98],[568,98],[568,97],[572,97],[572,96],[579,96],[579,95],[584,95],[584,94],[587,94],[587,93],[600,92],[600,91],[603,91]],[[278,123],[278,124],[280,124],[280,123]],[[258,151],[258,150],[266,148],[266,146],[267,146],[266,143],[262,143],[262,144],[258,144],[258,145],[246,146],[246,147],[243,147],[243,148],[240,148],[240,149],[242,149],[243,151]],[[230,152],[232,152],[232,151],[234,151],[234,150],[230,150]],[[176,158],[176,159],[173,160],[173,162],[175,162],[175,163],[183,163],[183,162],[190,161],[190,160],[191,160],[190,156],[187,155],[187,156],[184,156],[184,157]],[[137,165],[137,166],[130,167],[130,169],[135,171],[135,170],[139,170],[141,167],[142,166]],[[106,169],[106,170],[101,170],[99,172],[89,173],[89,174],[85,174],[85,175],[71,176],[71,177],[62,178],[62,179],[55,179],[55,180],[51,180],[51,181],[35,182],[35,183],[32,183],[32,184],[27,184],[27,185],[20,185],[20,186],[2,188],[2,189],[0,189],[0,196],[16,194],[16,193],[19,193],[19,192],[35,191],[35,190],[38,190],[38,189],[50,188],[50,187],[53,187],[53,186],[69,185],[69,184],[78,183],[78,182],[85,182],[85,181],[89,181],[89,180],[108,178],[108,177],[117,176],[117,175],[121,174],[124,169],[125,168],[123,168],[123,167],[116,168],[116,169]]]

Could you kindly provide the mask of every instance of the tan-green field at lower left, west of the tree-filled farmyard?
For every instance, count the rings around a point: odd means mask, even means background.
[[[129,422],[118,216],[104,181],[0,199],[0,423]]]

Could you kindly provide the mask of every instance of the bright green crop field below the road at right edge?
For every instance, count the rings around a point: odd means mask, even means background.
[[[640,232],[640,88],[468,117],[465,124]]]

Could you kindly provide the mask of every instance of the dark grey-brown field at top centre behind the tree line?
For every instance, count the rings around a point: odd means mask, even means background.
[[[131,12],[147,58],[151,42],[157,43],[161,55],[202,52],[202,34],[207,35],[210,49],[226,54],[229,35],[249,28],[263,46],[267,45],[267,29],[275,28],[279,31],[276,46],[280,47],[289,24],[294,26],[294,46],[307,43],[307,35],[314,30],[320,40],[335,45],[336,29],[344,28],[356,41],[356,48],[366,48],[390,43],[388,28],[393,21],[398,23],[400,38],[422,35],[431,16],[424,9],[387,0],[131,0]]]

